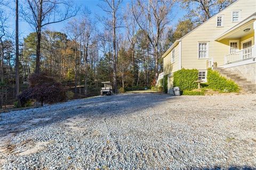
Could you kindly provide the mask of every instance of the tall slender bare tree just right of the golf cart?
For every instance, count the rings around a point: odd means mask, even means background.
[[[113,82],[114,90],[117,93],[117,40],[116,40],[116,30],[117,25],[117,12],[122,3],[122,0],[103,0],[107,4],[107,7],[100,6],[103,11],[111,15],[111,31],[112,31],[112,41],[113,41]]]

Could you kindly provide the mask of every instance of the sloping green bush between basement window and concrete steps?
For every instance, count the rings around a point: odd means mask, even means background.
[[[223,92],[238,92],[239,86],[232,80],[222,77],[219,72],[209,69],[207,72],[208,88]]]

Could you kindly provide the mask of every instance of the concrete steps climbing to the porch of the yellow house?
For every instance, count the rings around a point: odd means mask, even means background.
[[[256,84],[252,83],[251,81],[247,81],[243,75],[221,67],[214,68],[213,70],[218,71],[223,77],[236,82],[244,92],[256,93]]]

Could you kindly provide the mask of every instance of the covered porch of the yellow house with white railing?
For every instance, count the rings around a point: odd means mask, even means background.
[[[232,67],[255,62],[256,46],[256,13],[229,29],[216,41],[229,48],[229,54],[223,56],[224,65],[218,67]]]

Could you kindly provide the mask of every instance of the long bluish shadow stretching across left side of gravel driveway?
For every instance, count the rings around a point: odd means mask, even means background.
[[[167,94],[124,94],[67,101],[0,114],[0,137],[39,126],[61,122],[73,116],[118,116],[142,111],[174,96]]]

